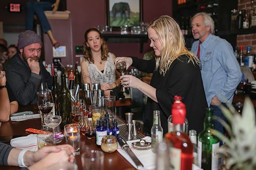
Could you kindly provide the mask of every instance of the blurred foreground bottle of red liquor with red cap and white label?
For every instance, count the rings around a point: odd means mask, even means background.
[[[166,133],[165,139],[171,144],[170,163],[175,170],[192,170],[193,144],[189,136],[183,132],[186,108],[172,109],[174,132]]]

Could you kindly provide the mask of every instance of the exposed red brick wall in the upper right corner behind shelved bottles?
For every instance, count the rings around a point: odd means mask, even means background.
[[[238,9],[248,8],[248,11],[250,11],[250,2],[251,0],[238,0]],[[254,2],[254,8],[255,7],[256,7],[256,1]],[[237,35],[236,45],[238,47],[240,45],[244,45],[244,53],[247,50],[247,46],[250,45],[252,49],[252,53],[256,54],[256,33]]]

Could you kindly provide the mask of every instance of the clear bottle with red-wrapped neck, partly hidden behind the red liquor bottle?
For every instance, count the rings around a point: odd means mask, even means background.
[[[181,100],[182,100],[181,96],[174,96],[174,102],[173,102],[173,105],[172,105],[172,110],[179,110],[180,108],[183,108],[184,111],[185,111],[185,114],[186,114],[186,106],[183,102],[181,102]],[[173,123],[172,123],[172,114],[169,116],[167,121],[168,121],[168,133],[171,133],[171,132],[174,131],[174,126],[173,126]],[[189,128],[188,126],[189,126],[189,122],[185,117],[185,122],[182,125],[183,132],[188,133],[188,128]]]

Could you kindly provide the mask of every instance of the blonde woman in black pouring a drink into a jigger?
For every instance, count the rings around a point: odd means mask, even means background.
[[[116,63],[124,61],[127,68],[132,65],[140,71],[153,73],[149,85],[131,75],[120,77],[124,87],[137,88],[148,96],[144,117],[145,133],[150,134],[154,110],[160,111],[163,133],[167,133],[167,119],[175,95],[182,96],[182,102],[186,105],[189,130],[201,132],[207,102],[199,59],[186,49],[180,26],[172,17],[163,15],[151,21],[148,24],[148,38],[155,52],[154,59],[116,58]]]

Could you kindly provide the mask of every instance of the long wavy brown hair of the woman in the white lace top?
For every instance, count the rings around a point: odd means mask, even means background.
[[[90,47],[87,47],[86,42],[88,41],[88,34],[91,31],[96,31],[97,33],[99,33],[99,37],[102,39],[102,46],[101,46],[101,59],[107,60],[108,58],[108,45],[106,44],[105,40],[102,38],[102,34],[99,32],[99,30],[97,30],[96,28],[90,28],[87,31],[85,31],[84,33],[84,58],[87,59],[87,61],[89,61],[90,63],[94,63],[93,60],[93,56],[92,56],[92,52],[90,50]]]

